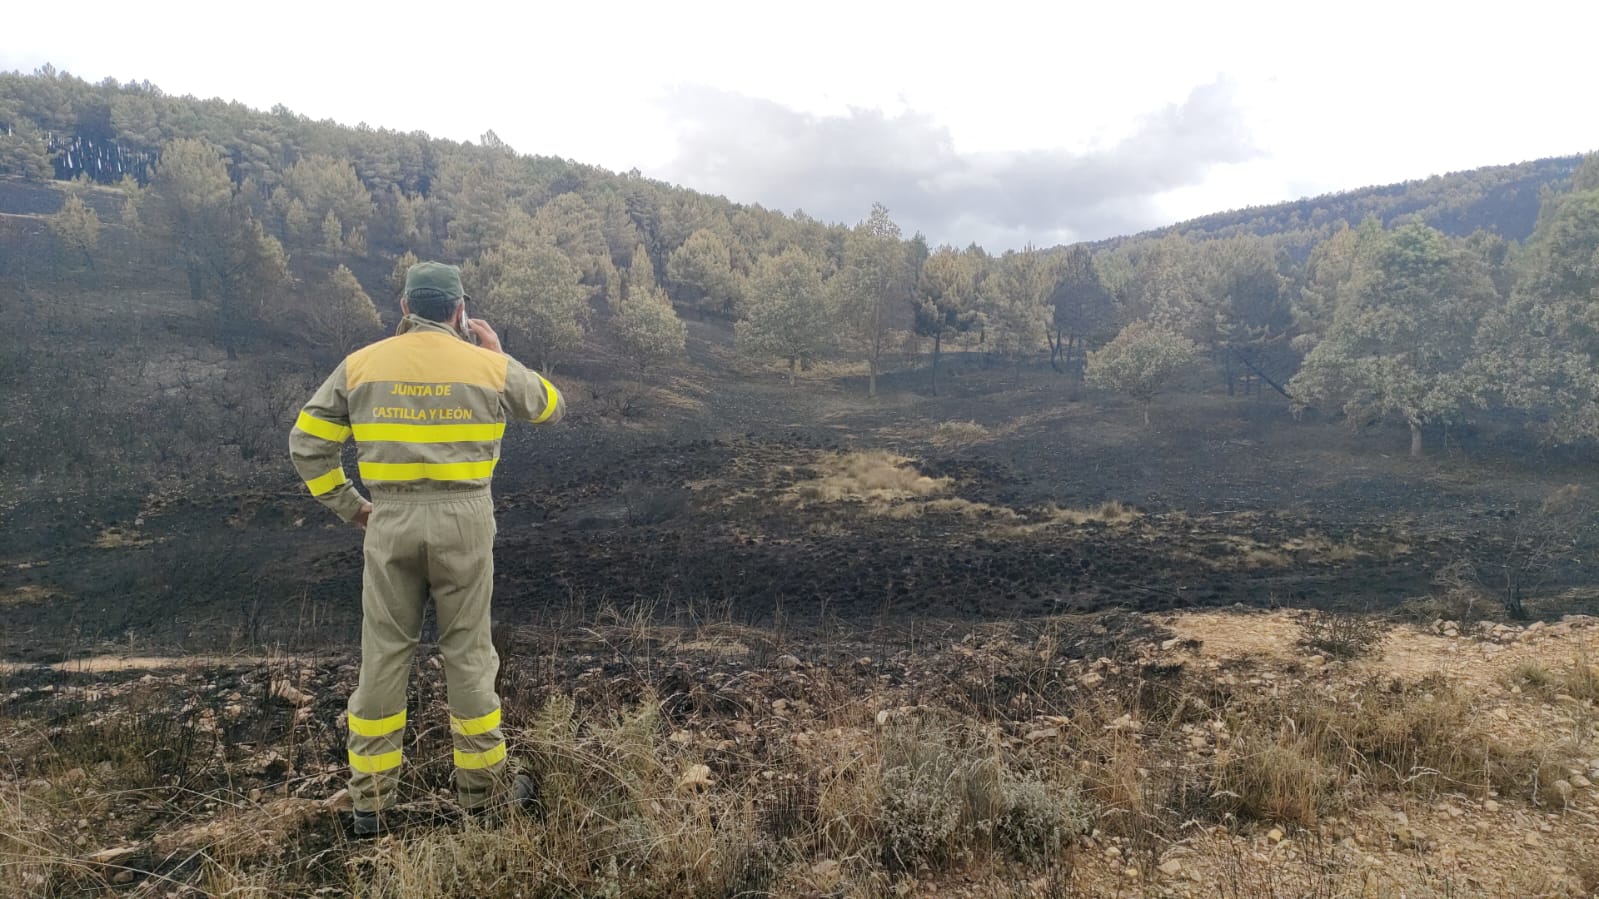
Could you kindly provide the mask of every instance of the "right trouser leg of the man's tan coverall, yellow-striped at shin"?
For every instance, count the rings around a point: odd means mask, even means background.
[[[438,648],[449,685],[456,798],[477,808],[504,787],[505,739],[494,693],[499,654],[489,629],[494,593],[494,502],[472,497],[433,507],[427,571],[438,613]]]

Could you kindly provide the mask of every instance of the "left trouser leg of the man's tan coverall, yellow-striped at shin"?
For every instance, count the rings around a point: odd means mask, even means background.
[[[406,683],[427,601],[425,534],[411,512],[377,504],[366,523],[361,673],[350,694],[345,741],[357,811],[377,811],[398,798]]]

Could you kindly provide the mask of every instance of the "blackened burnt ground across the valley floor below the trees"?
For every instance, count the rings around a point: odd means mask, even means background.
[[[1583,475],[1580,459],[1525,459],[1514,442],[1457,442],[1412,461],[1390,451],[1402,448],[1386,445],[1396,434],[1297,422],[1258,400],[1172,397],[1145,429],[1062,384],[1003,405],[975,389],[875,403],[838,389],[702,390],[670,395],[704,406],[692,414],[657,410],[638,424],[590,411],[564,430],[513,430],[496,481],[499,621],[560,624],[609,608],[860,627],[1236,603],[1391,608],[1434,592],[1449,565],[1498,552],[1516,509]],[[753,427],[728,434],[726,421]],[[975,422],[980,437],[940,442],[939,421]],[[943,486],[886,502],[800,496],[843,454],[878,450]],[[347,646],[360,533],[286,470],[241,472],[206,489],[13,499],[0,653]],[[1130,517],[1071,515],[1107,502]],[[1585,584],[1580,549],[1538,587]]]

